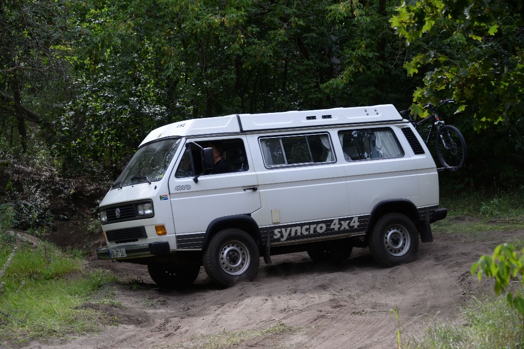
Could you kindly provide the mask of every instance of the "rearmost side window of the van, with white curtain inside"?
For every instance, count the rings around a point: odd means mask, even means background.
[[[390,128],[339,131],[346,161],[402,157],[404,152]]]

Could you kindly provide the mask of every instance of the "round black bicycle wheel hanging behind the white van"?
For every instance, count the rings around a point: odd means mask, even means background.
[[[442,126],[436,134],[436,156],[449,171],[458,171],[466,163],[466,141],[459,129]]]

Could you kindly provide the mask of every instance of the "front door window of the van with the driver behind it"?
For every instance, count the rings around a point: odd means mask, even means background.
[[[242,172],[249,170],[244,142],[241,139],[223,139],[195,142],[202,148],[212,148],[215,165],[203,175]],[[192,155],[192,156],[191,156]],[[191,163],[191,157],[194,161]],[[174,176],[177,178],[193,177],[202,174],[201,150],[199,147],[185,147],[182,159]]]

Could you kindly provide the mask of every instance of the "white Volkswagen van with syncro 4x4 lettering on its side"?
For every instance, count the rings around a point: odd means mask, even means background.
[[[380,265],[406,263],[447,213],[431,154],[392,105],[160,127],[99,211],[98,256],[147,264],[169,287],[192,283],[202,265],[230,286],[252,279],[260,256],[297,251],[340,263],[369,246]]]

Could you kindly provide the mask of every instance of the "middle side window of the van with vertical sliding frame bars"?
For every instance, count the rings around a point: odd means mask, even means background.
[[[335,161],[329,134],[261,138],[260,148],[267,167]]]

